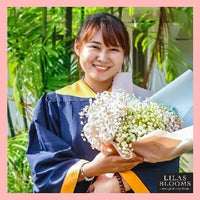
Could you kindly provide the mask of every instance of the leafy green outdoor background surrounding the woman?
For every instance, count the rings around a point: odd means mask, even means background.
[[[193,9],[190,7],[10,7],[7,10],[8,154],[7,191],[32,192],[25,157],[28,127],[42,94],[80,79],[73,42],[91,14],[108,12],[127,26],[133,82],[154,92],[193,68]],[[192,151],[180,172],[192,172]]]

